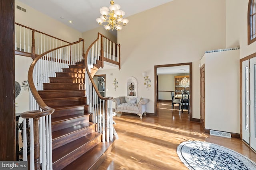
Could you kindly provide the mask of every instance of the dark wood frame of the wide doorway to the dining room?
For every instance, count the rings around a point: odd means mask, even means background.
[[[189,74],[189,78],[190,78],[190,82],[189,82],[189,87],[190,87],[190,90],[189,90],[189,93],[190,93],[190,100],[189,100],[189,117],[190,117],[190,121],[192,121],[192,63],[178,63],[178,64],[165,64],[165,65],[156,65],[154,66],[154,87],[155,87],[155,98],[154,98],[154,112],[156,114],[156,116],[158,116],[158,112],[157,112],[157,101],[158,101],[158,98],[159,98],[159,94],[158,94],[158,78],[157,78],[157,75],[158,75],[158,68],[163,68],[165,67],[166,69],[168,68],[172,68],[172,67],[176,67],[176,66],[185,66],[185,65],[188,65],[188,68],[189,68],[189,73],[187,72],[187,74]],[[183,73],[184,75],[184,73]],[[173,85],[174,85],[174,82],[173,82]],[[171,99],[171,95],[170,95],[170,99]]]

